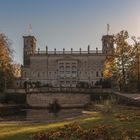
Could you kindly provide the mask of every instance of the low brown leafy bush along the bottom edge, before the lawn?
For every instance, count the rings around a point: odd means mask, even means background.
[[[34,140],[139,140],[139,130],[118,130],[111,125],[97,125],[84,129],[77,123],[72,123],[34,136]]]

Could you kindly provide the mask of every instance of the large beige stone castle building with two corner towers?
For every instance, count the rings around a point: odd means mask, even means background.
[[[22,84],[25,81],[37,82],[53,87],[76,87],[79,82],[94,86],[103,78],[103,66],[106,56],[112,53],[113,36],[102,37],[102,50],[87,51],[41,51],[36,48],[34,36],[23,36],[23,66],[21,68]]]

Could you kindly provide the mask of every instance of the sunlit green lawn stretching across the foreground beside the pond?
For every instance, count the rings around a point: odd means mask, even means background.
[[[84,112],[84,115],[81,117],[51,124],[2,123],[0,124],[0,140],[32,140],[32,137],[35,133],[50,129],[57,129],[72,122],[78,122],[84,128],[91,128],[99,124],[105,124],[115,126],[118,129],[127,128],[140,130],[139,108],[113,106],[111,107],[111,110],[112,111],[108,113],[102,112],[101,109],[100,111],[87,111]],[[133,116],[137,117],[134,118],[133,121],[121,121],[116,117],[117,115],[128,116],[130,119]]]

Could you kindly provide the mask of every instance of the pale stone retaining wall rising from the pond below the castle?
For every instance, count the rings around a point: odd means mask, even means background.
[[[55,100],[63,108],[84,107],[90,103],[89,94],[72,93],[31,93],[26,102],[30,107],[49,107]]]

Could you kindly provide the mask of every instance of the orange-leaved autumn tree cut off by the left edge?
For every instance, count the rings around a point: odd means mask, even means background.
[[[10,85],[13,78],[11,43],[5,34],[0,33],[0,90]]]

